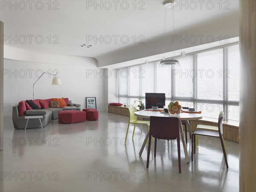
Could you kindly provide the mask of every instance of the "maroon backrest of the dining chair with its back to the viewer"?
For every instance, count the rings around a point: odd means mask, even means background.
[[[157,139],[173,140],[180,138],[179,119],[177,117],[150,117],[149,135]]]

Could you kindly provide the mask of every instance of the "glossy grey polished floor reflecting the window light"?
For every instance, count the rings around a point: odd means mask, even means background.
[[[138,125],[132,141],[131,125],[125,146],[127,123],[127,116],[100,113],[99,121],[57,119],[42,133],[25,134],[5,117],[0,191],[239,191],[238,143],[226,141],[228,170],[218,139],[201,137],[189,164],[181,145],[179,174],[177,142],[158,140],[146,169],[147,148],[139,156],[146,128]]]

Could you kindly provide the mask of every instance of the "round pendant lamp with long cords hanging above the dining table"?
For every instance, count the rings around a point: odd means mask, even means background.
[[[170,8],[173,6],[173,4],[175,3],[174,0],[166,0],[163,2],[164,5],[164,51],[163,51],[163,60],[160,61],[160,65],[159,67],[172,67],[172,66],[179,66],[180,67],[180,63],[178,60],[175,59],[165,59],[165,55],[166,55],[166,9]],[[174,10],[173,10],[173,31],[174,31]],[[174,51],[174,56],[175,56],[175,51]]]

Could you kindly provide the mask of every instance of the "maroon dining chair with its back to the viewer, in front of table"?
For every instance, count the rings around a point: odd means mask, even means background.
[[[178,162],[179,162],[179,172],[181,173],[180,166],[180,131],[179,131],[179,119],[177,117],[150,117],[150,129],[148,136],[148,158],[147,158],[147,168],[149,164],[150,147],[151,147],[151,137],[154,137],[154,157],[157,154],[157,139],[161,140],[175,140],[177,139],[178,148]]]

